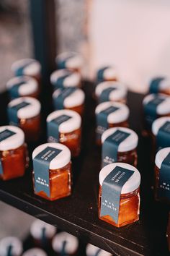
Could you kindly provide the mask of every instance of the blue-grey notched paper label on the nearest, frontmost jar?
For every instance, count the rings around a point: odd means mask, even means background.
[[[120,195],[123,185],[130,179],[134,171],[116,166],[102,184],[100,216],[111,216],[118,223]]]

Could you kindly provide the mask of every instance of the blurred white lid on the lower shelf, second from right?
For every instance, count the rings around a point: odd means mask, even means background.
[[[72,236],[66,232],[61,232],[55,235],[52,242],[52,247],[55,252],[61,252],[63,249],[63,242],[66,241],[66,253],[73,254],[79,247],[79,240],[76,236]]]

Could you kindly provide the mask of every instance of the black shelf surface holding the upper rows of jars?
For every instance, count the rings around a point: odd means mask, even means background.
[[[85,84],[86,113],[83,124],[82,151],[73,160],[73,193],[54,202],[37,197],[32,189],[32,171],[24,177],[0,182],[0,199],[40,218],[64,231],[79,236],[113,255],[169,255],[166,244],[166,225],[169,207],[153,200],[151,189],[153,166],[150,161],[151,143],[140,135],[143,95],[128,93],[130,127],[139,135],[138,169],[141,181],[140,221],[117,229],[98,218],[98,174],[100,149],[95,145],[95,102],[92,85]],[[47,108],[45,115],[50,108]],[[45,137],[43,137],[45,140]],[[43,140],[43,142],[44,142]],[[34,146],[30,147],[30,153]]]

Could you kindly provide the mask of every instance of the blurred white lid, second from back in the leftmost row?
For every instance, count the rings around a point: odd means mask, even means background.
[[[18,90],[20,96],[35,93],[38,89],[37,80],[27,76],[13,77],[7,82],[6,87],[10,90],[14,85],[17,85],[20,82],[23,82]]]

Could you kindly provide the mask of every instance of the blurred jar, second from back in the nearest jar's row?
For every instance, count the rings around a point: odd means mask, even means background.
[[[127,88],[120,82],[100,82],[95,89],[97,101],[126,103]]]

